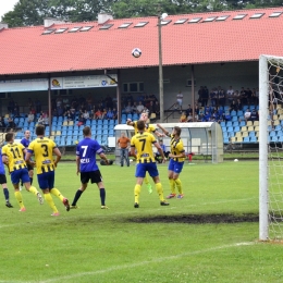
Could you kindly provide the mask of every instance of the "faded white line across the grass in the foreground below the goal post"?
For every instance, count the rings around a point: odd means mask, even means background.
[[[151,260],[146,260],[146,261],[136,262],[136,263],[132,263],[132,264],[114,266],[112,268],[108,268],[108,269],[103,269],[103,270],[81,272],[81,273],[71,274],[71,275],[66,275],[66,276],[59,276],[59,278],[54,278],[54,279],[49,279],[49,280],[45,280],[45,281],[37,281],[37,283],[60,282],[60,281],[63,281],[63,280],[71,280],[71,279],[75,279],[75,278],[81,278],[81,276],[103,274],[103,273],[109,273],[109,272],[113,272],[113,271],[118,271],[118,270],[132,269],[132,268],[136,268],[136,267],[163,262],[163,261],[168,261],[168,260],[176,260],[176,259],[180,259],[182,257],[189,257],[189,256],[211,253],[211,251],[216,251],[216,250],[221,250],[221,249],[225,249],[225,248],[234,248],[234,247],[241,247],[241,246],[251,246],[251,245],[255,245],[255,244],[257,244],[257,243],[256,242],[243,242],[243,243],[235,243],[235,244],[231,244],[231,245],[222,245],[222,246],[218,246],[218,247],[200,249],[200,250],[195,250],[195,251],[190,251],[190,253],[183,253],[183,254],[175,255],[175,256],[153,258]],[[17,283],[28,283],[28,282],[17,282]]]

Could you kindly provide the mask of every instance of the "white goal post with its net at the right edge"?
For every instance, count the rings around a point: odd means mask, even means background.
[[[259,238],[283,239],[283,58],[259,60]]]

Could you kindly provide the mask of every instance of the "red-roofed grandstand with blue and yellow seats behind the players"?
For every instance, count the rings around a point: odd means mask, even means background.
[[[195,121],[219,122],[224,144],[257,144],[258,119],[247,119],[245,112],[258,111],[258,101],[245,96],[249,96],[248,87],[258,88],[259,56],[283,54],[283,46],[274,40],[278,30],[283,28],[280,11],[283,9],[182,14],[162,21],[165,121],[174,122],[176,113],[180,115],[175,102],[182,90],[182,111],[192,104],[193,113],[187,111],[186,116],[193,114]],[[153,114],[151,118],[158,120],[157,21],[155,16],[114,20],[100,14],[97,22],[48,19],[41,26],[19,28],[0,23],[0,39],[4,42],[0,46],[2,132],[13,128],[20,139],[29,130],[34,137],[35,125],[45,115],[48,118],[46,134],[59,146],[75,145],[82,138],[84,125],[89,125],[94,136],[107,145],[108,137],[114,137],[118,123],[138,119],[134,102],[142,101]],[[132,56],[133,48],[142,50],[140,58]],[[198,93],[201,86],[208,87],[206,103]],[[239,94],[232,100],[244,99],[241,109],[231,106],[230,86]],[[224,91],[222,102],[220,89]],[[256,98],[257,95],[255,90]],[[66,112],[74,100],[81,102],[70,119]],[[14,101],[19,104],[16,111]],[[151,101],[157,103],[152,109]],[[97,109],[101,112],[116,109],[116,116],[107,118],[107,113],[95,116]],[[90,116],[79,121],[85,110]],[[32,122],[28,121],[30,111],[35,115]],[[280,99],[270,112],[269,130],[271,142],[283,139]]]

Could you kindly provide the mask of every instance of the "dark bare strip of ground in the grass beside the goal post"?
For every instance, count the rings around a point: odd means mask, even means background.
[[[126,222],[134,223],[241,223],[241,222],[258,222],[259,217],[256,213],[245,214],[180,214],[180,216],[156,216],[156,217],[135,217],[127,218]]]

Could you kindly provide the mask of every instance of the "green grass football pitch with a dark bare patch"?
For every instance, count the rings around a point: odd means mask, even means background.
[[[282,245],[258,242],[257,161],[186,163],[183,199],[161,207],[144,185],[138,209],[135,165],[100,170],[109,209],[100,209],[98,188],[89,185],[79,209],[66,212],[53,197],[57,218],[27,192],[26,212],[19,212],[8,175],[14,208],[2,196],[0,282],[282,282]],[[168,195],[167,165],[159,172]],[[75,162],[59,164],[56,187],[72,201]]]

